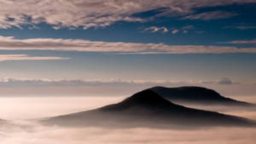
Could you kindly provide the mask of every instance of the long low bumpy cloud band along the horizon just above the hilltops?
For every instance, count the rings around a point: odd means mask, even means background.
[[[183,86],[198,84],[238,84],[229,78],[222,80],[80,80],[80,79],[24,79],[1,78],[0,86]]]

